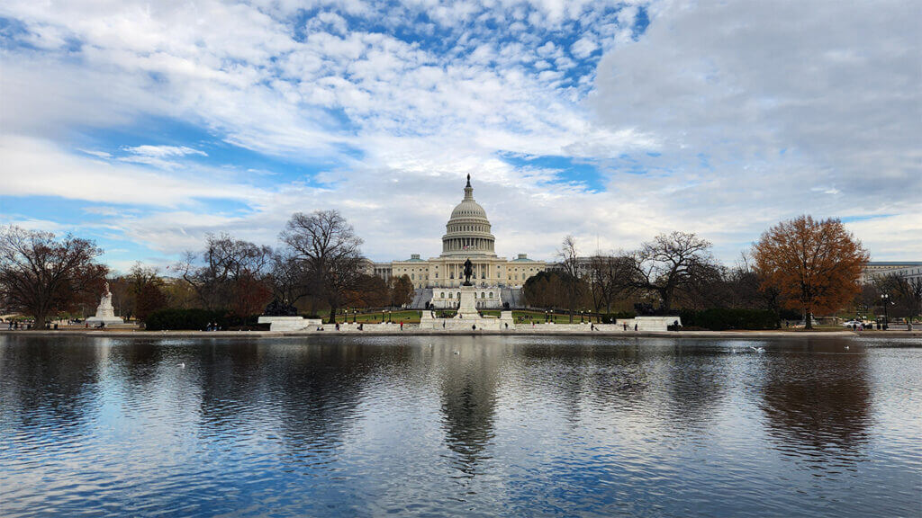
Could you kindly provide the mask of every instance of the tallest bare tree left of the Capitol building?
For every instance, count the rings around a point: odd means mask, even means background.
[[[330,307],[330,322],[348,300],[349,291],[364,273],[361,239],[337,210],[297,212],[279,236],[302,263],[306,292],[322,298]]]

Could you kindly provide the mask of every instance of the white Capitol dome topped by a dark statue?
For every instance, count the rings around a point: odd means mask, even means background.
[[[452,217],[445,225],[445,235],[442,236],[442,255],[490,255],[496,256],[493,250],[496,238],[490,233],[490,220],[487,212],[479,203],[474,201],[474,188],[470,186],[470,175],[467,175],[467,186],[464,188],[464,200],[461,201]]]

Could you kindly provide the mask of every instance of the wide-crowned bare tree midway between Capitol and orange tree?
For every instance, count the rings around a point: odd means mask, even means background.
[[[677,289],[693,289],[703,278],[715,276],[719,266],[710,248],[710,242],[693,233],[660,234],[633,254],[631,285],[656,292],[660,311],[668,312]]]

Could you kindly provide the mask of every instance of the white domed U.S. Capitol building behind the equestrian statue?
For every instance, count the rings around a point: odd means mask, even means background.
[[[512,260],[498,257],[495,252],[496,238],[491,234],[490,219],[479,203],[474,201],[474,188],[470,186],[470,175],[461,200],[451,218],[445,224],[442,236],[442,253],[438,257],[420,259],[414,253],[408,260],[390,263],[374,263],[374,274],[389,280],[406,275],[417,288],[417,292],[431,300],[436,308],[452,308],[457,305],[459,288],[464,282],[464,263],[469,258],[473,265],[471,284],[478,287],[479,308],[499,308],[503,302],[514,305],[513,300],[502,300],[517,293],[528,277],[543,271],[544,261],[529,259],[525,253]],[[419,303],[419,301],[418,301]]]

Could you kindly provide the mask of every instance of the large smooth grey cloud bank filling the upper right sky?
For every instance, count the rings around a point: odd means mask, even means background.
[[[634,154],[613,167],[662,174],[618,173],[614,191],[651,196],[651,218],[713,232],[727,247],[744,244],[731,236],[751,241],[801,213],[914,211],[922,198],[914,27],[922,20],[910,6],[654,9],[639,41],[603,57],[591,104],[603,124],[659,144],[660,155]],[[656,183],[675,189],[657,199]],[[905,248],[904,258],[913,253]]]

